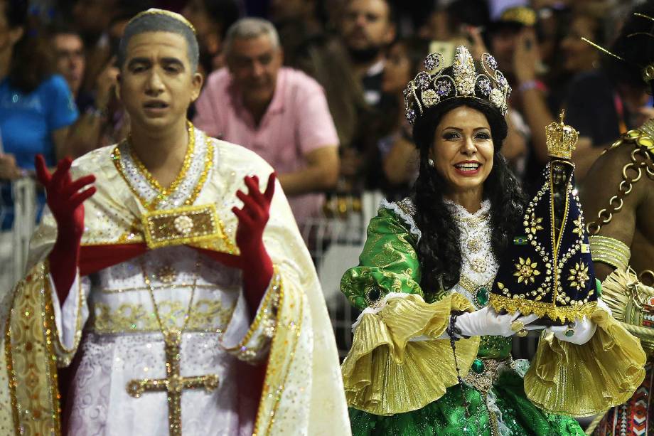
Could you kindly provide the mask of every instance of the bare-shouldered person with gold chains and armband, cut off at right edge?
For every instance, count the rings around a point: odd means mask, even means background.
[[[654,92],[653,21],[654,1],[648,0],[628,16],[606,61],[613,77]],[[602,299],[648,353],[645,380],[633,397],[598,416],[586,432],[640,434],[654,426],[654,119],[623,134],[595,161],[581,203]]]

